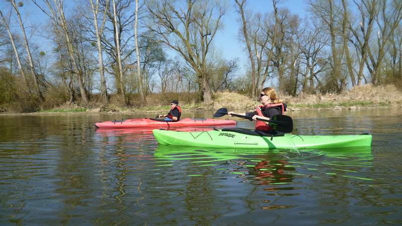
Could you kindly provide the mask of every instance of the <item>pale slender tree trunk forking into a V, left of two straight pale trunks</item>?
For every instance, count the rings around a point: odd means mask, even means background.
[[[102,34],[105,28],[105,22],[106,22],[106,14],[109,10],[109,0],[106,1],[106,9],[104,9],[104,15],[103,15],[103,20],[102,20],[102,25],[98,26],[97,20],[98,20],[98,13],[99,13],[99,0],[96,0],[96,4],[94,5],[92,0],[89,0],[93,12],[93,23],[95,27],[95,34],[96,34],[96,47],[97,47],[97,52],[98,52],[98,64],[99,64],[99,74],[100,74],[100,90],[102,91],[102,95],[104,95],[105,102],[109,102],[109,96],[108,96],[108,91],[106,90],[106,79],[105,79],[105,69],[104,69],[104,60],[103,60],[103,54],[102,54]]]

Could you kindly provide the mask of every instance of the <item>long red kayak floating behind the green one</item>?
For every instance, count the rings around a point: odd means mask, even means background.
[[[210,127],[236,125],[234,120],[182,119],[178,122],[160,119],[129,119],[95,123],[96,128],[133,129],[133,128],[168,128],[168,127]]]

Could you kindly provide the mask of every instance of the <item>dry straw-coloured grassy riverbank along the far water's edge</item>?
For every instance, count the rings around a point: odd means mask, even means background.
[[[152,99],[153,98],[153,99]],[[372,86],[362,85],[352,88],[342,94],[304,94],[298,96],[280,96],[287,103],[289,111],[304,109],[316,110],[341,110],[360,109],[373,107],[402,107],[402,91],[394,85]],[[132,113],[132,112],[164,112],[168,111],[168,104],[155,104],[155,96],[147,98],[147,106],[127,107],[117,104],[84,107],[78,104],[62,104],[58,107],[41,110],[41,113],[65,113],[65,112],[108,112]],[[245,111],[255,108],[259,103],[248,96],[234,92],[218,92],[214,95],[211,104],[196,103],[195,101],[183,102],[178,98],[183,112],[216,110],[221,107],[228,109],[244,109]],[[0,108],[0,114],[12,113],[12,111]]]

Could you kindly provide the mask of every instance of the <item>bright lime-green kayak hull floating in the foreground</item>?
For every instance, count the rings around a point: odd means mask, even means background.
[[[303,149],[370,147],[371,135],[309,136],[285,134],[281,137],[263,137],[230,131],[177,132],[153,130],[162,145],[216,148]]]

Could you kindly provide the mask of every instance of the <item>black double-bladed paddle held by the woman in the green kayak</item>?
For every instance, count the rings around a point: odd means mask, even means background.
[[[222,116],[228,115],[228,109],[225,107],[219,108],[217,112],[215,112],[214,117],[219,118]],[[248,119],[253,121],[251,117],[242,116],[238,114],[232,114],[232,116],[236,116],[243,119]],[[293,131],[293,120],[289,116],[284,115],[276,115],[272,117],[272,120],[266,119],[257,119],[258,121],[263,121],[269,123],[269,126],[272,127],[274,130],[282,132],[282,133],[291,133]]]

